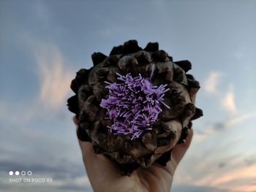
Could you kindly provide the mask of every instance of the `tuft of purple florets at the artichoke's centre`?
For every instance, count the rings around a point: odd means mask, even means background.
[[[151,130],[162,112],[166,85],[155,86],[141,74],[132,77],[118,74],[119,82],[105,82],[109,90],[108,99],[102,99],[100,107],[108,110],[109,119],[113,121],[108,126],[115,134],[131,134],[132,139],[140,137],[143,131]]]

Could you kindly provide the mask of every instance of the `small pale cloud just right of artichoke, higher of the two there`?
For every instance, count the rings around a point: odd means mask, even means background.
[[[221,72],[210,72],[206,81],[203,83],[203,90],[206,93],[218,93],[218,85],[222,78]]]

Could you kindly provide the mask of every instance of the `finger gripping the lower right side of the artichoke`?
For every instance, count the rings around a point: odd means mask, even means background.
[[[187,149],[189,148],[189,145],[192,141],[192,136],[193,136],[193,129],[190,128],[189,135],[186,139],[186,142],[184,144],[178,144],[175,147],[173,147],[173,150],[172,150],[173,160],[176,161],[177,165],[181,161],[181,158],[183,158]]]

